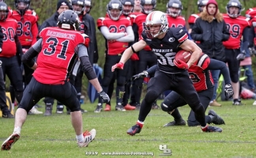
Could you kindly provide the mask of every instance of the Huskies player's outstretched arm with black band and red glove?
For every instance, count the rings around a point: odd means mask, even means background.
[[[127,60],[130,58],[131,55],[136,53],[137,51],[141,51],[144,47],[147,46],[147,43],[145,43],[144,40],[139,40],[137,43],[134,43],[130,47],[128,47],[122,54],[122,57],[119,61],[119,63],[112,66],[111,71],[114,72],[115,69],[123,69],[124,64],[127,62]]]

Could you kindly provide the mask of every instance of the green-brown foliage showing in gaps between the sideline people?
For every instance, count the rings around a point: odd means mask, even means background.
[[[227,6],[228,1],[229,0],[216,0],[216,2],[218,3],[218,7],[220,9],[220,13],[226,13],[225,7]],[[45,21],[47,18],[51,17],[53,13],[55,13],[57,2],[58,0],[51,0],[51,1],[50,0],[31,0],[32,9],[35,9],[36,13],[40,17],[39,24],[42,24],[43,21]],[[106,6],[108,2],[109,2],[108,0],[92,0],[92,10],[90,14],[92,15],[92,17],[94,17],[95,21],[99,17],[105,16]],[[186,20],[188,19],[190,14],[198,13],[198,6],[197,6],[198,0],[182,0],[181,2],[183,3],[182,15],[183,17],[186,18]],[[242,15],[245,15],[245,12],[247,9],[256,7],[255,0],[240,0],[240,2],[242,3],[244,8],[244,10],[242,11]],[[156,10],[165,12],[167,3],[168,3],[168,0],[156,0]],[[6,1],[6,4],[10,6],[12,9],[15,9],[14,0]],[[98,43],[98,50],[99,50],[99,56],[100,56],[98,64],[100,66],[104,66],[105,47],[100,47],[100,46],[105,46],[105,40],[98,29],[96,29],[96,39]],[[253,67],[255,66],[256,66],[256,63],[254,62]],[[86,92],[86,87],[87,87],[87,84],[84,84],[83,90],[85,92]]]

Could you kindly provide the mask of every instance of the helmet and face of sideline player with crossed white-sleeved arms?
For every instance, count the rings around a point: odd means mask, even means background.
[[[122,3],[119,0],[111,0],[107,4],[107,14],[113,21],[118,21],[122,15]]]

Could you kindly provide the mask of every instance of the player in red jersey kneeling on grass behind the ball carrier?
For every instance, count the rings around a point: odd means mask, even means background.
[[[145,77],[145,76],[153,76],[156,72],[157,66],[152,66],[146,71],[142,73],[138,73],[134,77]],[[210,73],[210,70],[220,70],[220,73],[224,76],[225,81],[225,96],[228,98],[233,95],[233,88],[231,85],[228,67],[224,62],[220,62],[213,58],[209,58],[208,55],[201,54],[200,58],[197,62],[194,62],[192,66],[188,69],[190,79],[193,82],[194,88],[198,92],[199,99],[203,106],[205,107],[205,111],[207,107],[209,107],[209,102],[213,96],[213,77]],[[183,120],[182,116],[179,114],[179,110],[177,107],[182,107],[186,105],[186,101],[179,96],[179,94],[175,91],[171,91],[164,98],[164,101],[161,103],[161,108],[163,111],[168,112],[169,115],[174,117],[174,121],[168,122],[164,126],[185,126],[186,122]],[[173,111],[175,109],[175,111]],[[171,112],[172,111],[172,112]],[[209,111],[208,115],[205,115],[206,123],[214,123],[216,125],[224,124],[224,120],[221,119],[216,112],[213,110]],[[190,111],[190,115],[187,120],[188,126],[199,126],[199,122],[194,117],[194,111]]]

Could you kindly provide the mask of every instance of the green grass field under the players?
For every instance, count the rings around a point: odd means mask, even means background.
[[[127,135],[126,130],[137,121],[138,111],[115,111],[112,107],[110,112],[96,114],[93,112],[96,103],[82,104],[82,108],[88,110],[83,114],[84,129],[95,128],[97,132],[96,139],[87,148],[77,147],[70,115],[28,115],[20,140],[11,150],[1,151],[0,157],[164,157],[160,156],[164,154],[160,150],[164,145],[169,149],[165,153],[171,151],[171,157],[256,157],[256,106],[253,102],[243,100],[246,105],[232,106],[228,101],[220,102],[222,107],[209,107],[226,122],[220,125],[222,133],[203,133],[198,126],[163,127],[172,121],[171,117],[161,110],[152,110],[141,134],[133,137]],[[44,111],[44,108],[39,110]],[[186,105],[179,110],[186,119],[190,107]],[[13,132],[13,122],[14,119],[0,118],[1,144]],[[104,156],[106,152],[144,156]]]

